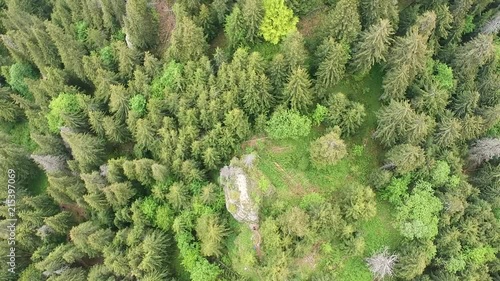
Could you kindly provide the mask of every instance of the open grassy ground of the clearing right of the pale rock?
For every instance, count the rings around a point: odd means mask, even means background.
[[[345,80],[331,89],[332,94],[342,92],[350,100],[362,103],[367,116],[357,133],[345,139],[348,156],[328,170],[316,170],[309,163],[309,144],[324,134],[323,128],[314,128],[309,136],[297,140],[273,141],[256,136],[244,143],[242,153],[257,152],[259,169],[275,187],[277,199],[287,206],[298,206],[302,197],[311,192],[335,198],[336,192],[353,181],[369,185],[371,172],[380,166],[383,159],[382,148],[372,138],[381,91],[381,71],[378,68],[374,68],[362,81]],[[389,203],[377,198],[377,215],[358,223],[365,239],[363,255],[352,256],[335,247],[336,241],[332,241],[334,251],[330,256],[321,256],[321,251],[312,247],[310,254],[296,260],[297,266],[304,267],[304,270],[318,270],[317,263],[330,259],[334,261],[333,271],[339,280],[372,280],[364,258],[385,246],[394,249],[401,241],[401,236],[392,226],[393,211]]]

